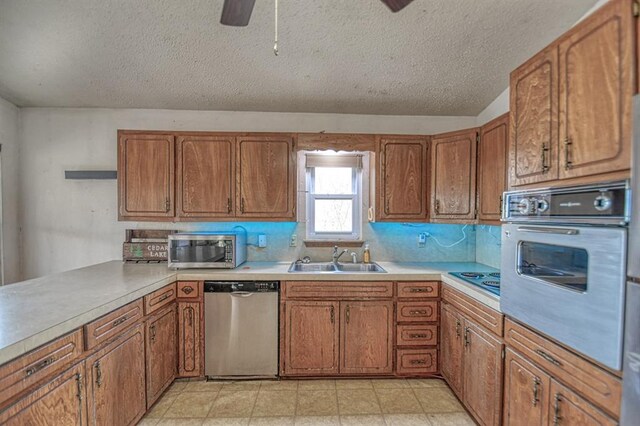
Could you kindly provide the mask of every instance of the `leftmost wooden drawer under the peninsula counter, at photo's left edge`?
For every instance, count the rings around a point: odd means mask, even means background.
[[[0,368],[0,406],[63,370],[81,354],[82,329],[78,329],[3,365]]]

